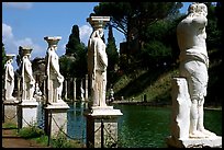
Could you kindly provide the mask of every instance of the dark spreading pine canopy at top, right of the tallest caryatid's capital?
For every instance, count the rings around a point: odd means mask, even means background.
[[[128,50],[133,37],[141,48],[145,25],[177,13],[181,7],[180,2],[100,2],[93,11],[94,15],[111,16],[111,25],[125,35]]]

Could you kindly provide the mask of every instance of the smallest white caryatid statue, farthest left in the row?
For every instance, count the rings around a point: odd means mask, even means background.
[[[7,55],[7,62],[4,65],[5,74],[4,74],[4,94],[5,100],[15,100],[12,96],[14,90],[14,70],[13,70],[13,58],[15,55]]]

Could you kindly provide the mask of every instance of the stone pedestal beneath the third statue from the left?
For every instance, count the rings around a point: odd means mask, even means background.
[[[64,101],[48,104],[45,108],[45,132],[52,138],[58,134],[67,134],[67,109],[69,106]],[[64,135],[66,136],[66,135]]]

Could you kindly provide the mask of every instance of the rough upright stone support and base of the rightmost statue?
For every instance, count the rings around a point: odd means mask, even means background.
[[[172,81],[172,116],[171,136],[166,139],[171,148],[222,148],[222,137],[189,138],[190,128],[190,95],[184,78],[173,78]]]

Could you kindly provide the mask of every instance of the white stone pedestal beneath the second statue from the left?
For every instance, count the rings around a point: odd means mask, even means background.
[[[38,103],[35,100],[25,100],[19,105],[21,111],[19,127],[30,127],[35,126],[37,123],[37,106]]]

